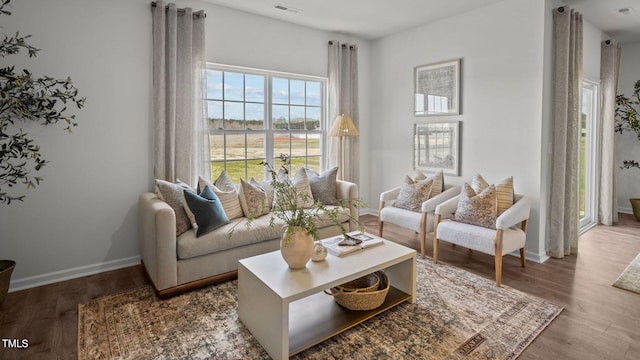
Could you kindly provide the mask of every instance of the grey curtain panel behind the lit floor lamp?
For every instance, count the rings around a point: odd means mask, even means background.
[[[358,46],[329,41],[329,123],[330,129],[336,117],[345,114],[351,117],[360,130],[358,108]],[[342,139],[329,138],[326,168],[338,166],[341,180],[358,183],[360,180],[360,142],[358,137],[344,139],[345,160],[338,154],[338,142]]]

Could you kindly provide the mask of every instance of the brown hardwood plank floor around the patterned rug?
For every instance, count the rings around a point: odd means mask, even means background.
[[[362,220],[377,233],[377,217]],[[385,224],[384,235],[419,249],[411,231]],[[427,255],[432,251],[428,242]],[[638,253],[640,222],[620,214],[618,225],[583,235],[577,255],[529,261],[525,268],[505,256],[504,285],[564,306],[519,359],[640,359],[640,294],[611,286]],[[442,243],[439,259],[494,279],[491,256]],[[75,359],[78,304],[146,284],[142,268],[134,266],[10,293],[0,306],[0,359]],[[8,348],[9,340],[22,339],[28,348]]]

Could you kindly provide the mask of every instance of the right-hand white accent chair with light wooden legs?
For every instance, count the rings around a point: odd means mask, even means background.
[[[469,250],[477,250],[495,257],[496,286],[502,285],[502,256],[520,250],[520,263],[525,266],[527,221],[531,208],[528,196],[514,194],[514,204],[496,219],[495,229],[452,220],[458,207],[456,196],[435,209],[433,262],[438,262],[438,245],[446,241]]]

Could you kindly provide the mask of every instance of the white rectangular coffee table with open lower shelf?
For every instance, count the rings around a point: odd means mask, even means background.
[[[374,236],[369,234],[370,236]],[[386,269],[391,288],[377,309],[351,311],[325,289]],[[384,244],[289,270],[280,251],[238,264],[238,316],[274,359],[288,359],[404,301],[415,302],[416,251]]]

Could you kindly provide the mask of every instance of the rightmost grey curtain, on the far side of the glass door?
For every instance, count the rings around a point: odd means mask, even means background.
[[[602,117],[600,154],[600,209],[598,218],[604,225],[618,222],[618,194],[616,187],[616,92],[620,72],[621,46],[607,40],[601,43],[600,79],[602,81]]]

